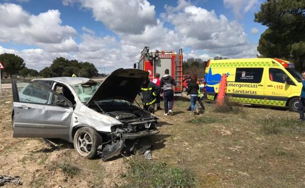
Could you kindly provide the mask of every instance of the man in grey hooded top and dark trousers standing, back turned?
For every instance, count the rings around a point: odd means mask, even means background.
[[[167,116],[168,113],[173,115],[174,106],[174,92],[173,85],[176,85],[174,79],[169,75],[169,69],[165,69],[165,75],[162,76],[160,80],[160,87],[163,87],[163,98],[164,98],[164,115]],[[170,103],[170,107],[168,106]]]

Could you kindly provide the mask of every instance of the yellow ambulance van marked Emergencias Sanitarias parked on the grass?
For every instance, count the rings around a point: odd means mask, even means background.
[[[226,95],[232,102],[297,111],[302,75],[293,63],[276,58],[210,60],[205,69],[208,99],[217,99],[222,74],[227,75]]]

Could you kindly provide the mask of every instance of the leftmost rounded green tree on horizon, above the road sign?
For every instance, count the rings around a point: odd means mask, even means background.
[[[0,55],[0,62],[3,63],[5,72],[12,78],[13,74],[18,73],[25,66],[23,59],[15,54],[4,53]],[[2,71],[2,70],[1,70]],[[1,74],[2,78],[2,74]]]

